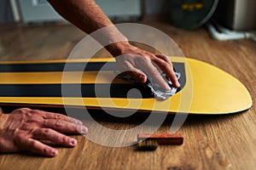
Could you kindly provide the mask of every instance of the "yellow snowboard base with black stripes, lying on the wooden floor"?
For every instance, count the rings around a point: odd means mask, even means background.
[[[164,101],[154,99],[142,84],[116,77],[112,58],[1,62],[0,106],[211,115],[252,106],[247,88],[230,74],[200,60],[170,59],[181,73],[181,88]]]

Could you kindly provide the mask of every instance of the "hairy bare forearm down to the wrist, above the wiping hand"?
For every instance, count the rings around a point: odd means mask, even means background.
[[[93,37],[97,42],[102,43],[103,46],[112,44],[108,45],[106,48],[113,54],[113,56],[123,54],[125,47],[131,46],[127,41],[127,38],[113,26],[111,20],[109,20],[108,16],[102,12],[102,9],[94,0],[48,1],[65,19],[88,34],[105,27],[104,31],[100,31],[97,35],[93,35]],[[109,27],[109,29],[106,27]]]

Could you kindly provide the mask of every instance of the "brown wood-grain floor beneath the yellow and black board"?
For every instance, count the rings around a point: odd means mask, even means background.
[[[255,169],[256,43],[249,40],[218,42],[204,28],[183,31],[166,23],[144,23],[172,37],[186,56],[206,61],[239,79],[252,95],[253,107],[226,116],[189,116],[178,130],[183,133],[183,145],[161,145],[153,152],[143,152],[133,146],[113,148],[74,136],[79,144],[73,149],[60,147],[55,158],[26,153],[1,154],[0,169]],[[73,26],[1,26],[0,60],[67,58],[82,37],[84,33]],[[104,55],[108,54],[97,54]],[[158,133],[168,133],[172,119],[168,116]],[[125,129],[138,122],[101,123],[109,128]],[[135,140],[137,134],[134,136],[131,140]]]

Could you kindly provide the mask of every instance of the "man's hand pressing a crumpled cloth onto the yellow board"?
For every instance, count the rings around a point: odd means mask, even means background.
[[[163,71],[174,87],[180,87],[172,62],[166,55],[152,54],[132,46],[129,42],[116,42],[109,45],[107,49],[115,57],[117,69],[130,75],[137,82],[146,82],[148,76],[152,78],[153,83],[159,84],[164,90],[170,90],[170,86],[160,75],[160,71]]]

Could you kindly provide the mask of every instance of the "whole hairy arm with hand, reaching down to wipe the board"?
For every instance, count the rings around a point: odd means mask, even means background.
[[[108,16],[94,0],[48,0],[55,10],[73,25],[90,34],[93,31],[111,26],[111,29],[103,31],[100,37],[94,37],[96,41],[114,42],[108,45],[107,50],[115,57],[119,71],[125,71],[138,82],[146,82],[147,76],[152,77],[154,83],[161,88],[170,90],[164,79],[160,76],[160,70],[172,81],[175,87],[179,87],[177,77],[172,68],[172,62],[164,54],[151,54],[148,51],[132,46],[123,36]],[[119,40],[116,42],[115,40]]]

